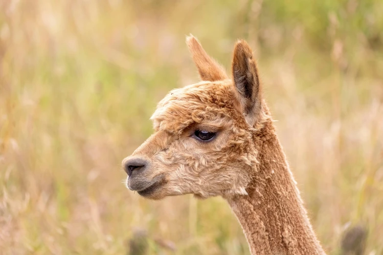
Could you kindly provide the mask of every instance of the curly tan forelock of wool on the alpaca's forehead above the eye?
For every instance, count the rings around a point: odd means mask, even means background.
[[[155,130],[180,134],[194,123],[233,118],[234,91],[229,80],[200,82],[170,91],[151,117]]]

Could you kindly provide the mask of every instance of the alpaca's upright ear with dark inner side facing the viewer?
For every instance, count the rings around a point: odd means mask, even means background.
[[[232,72],[238,110],[243,112],[248,124],[253,126],[262,111],[262,91],[252,50],[243,40],[235,44]]]

